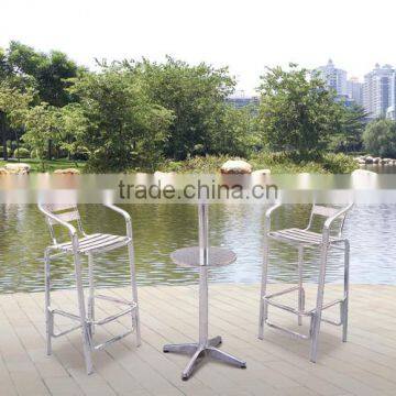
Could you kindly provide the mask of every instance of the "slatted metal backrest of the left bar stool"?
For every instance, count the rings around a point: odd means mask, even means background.
[[[76,221],[78,231],[85,235],[81,218],[76,204],[44,204],[40,205],[42,212],[50,212],[57,219],[66,222]],[[54,244],[57,244],[54,227],[59,226],[58,222],[50,217],[46,217],[46,223],[50,229],[51,238]]]

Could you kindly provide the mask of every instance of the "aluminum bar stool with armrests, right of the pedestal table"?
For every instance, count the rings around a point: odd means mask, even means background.
[[[264,323],[277,330],[289,333],[294,337],[311,340],[310,341],[310,361],[316,362],[318,354],[318,338],[320,330],[320,322],[324,321],[334,326],[342,326],[342,341],[346,342],[348,332],[348,302],[349,302],[349,256],[350,244],[349,241],[342,238],[342,229],[345,221],[346,212],[351,209],[352,204],[343,208],[324,207],[314,205],[309,217],[309,222],[306,229],[285,229],[278,231],[271,231],[271,216],[272,212],[280,205],[275,205],[266,211],[265,219],[265,233],[264,233],[264,257],[263,257],[263,274],[262,286],[260,294],[260,319],[258,319],[258,338],[263,339]],[[324,219],[322,232],[314,232],[312,223],[316,217]],[[268,254],[270,254],[270,240],[293,245],[298,251],[298,285],[295,287],[286,288],[282,292],[268,294],[267,293],[267,274],[268,274]],[[326,265],[328,258],[328,251],[330,248],[340,249],[344,252],[344,282],[343,282],[343,297],[323,304],[324,279],[326,279]],[[316,307],[307,310],[305,308],[305,289],[302,285],[302,264],[304,264],[304,250],[305,249],[320,249],[319,262],[319,282],[317,289]],[[297,292],[297,307],[280,304],[276,297],[286,295],[288,293]],[[333,321],[322,318],[322,311],[340,305],[340,320]],[[310,329],[308,334],[301,334],[296,331],[286,329],[283,326],[276,324],[268,320],[268,306],[273,306],[290,314],[298,318],[298,324],[301,326],[302,318],[310,318]]]

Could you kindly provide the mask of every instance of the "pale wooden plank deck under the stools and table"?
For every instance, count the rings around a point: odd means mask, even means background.
[[[327,297],[340,290],[328,286]],[[308,292],[312,297],[314,288]],[[129,289],[105,293],[127,297]],[[394,286],[353,285],[349,342],[341,342],[340,328],[323,323],[318,363],[312,364],[307,341],[267,328],[265,340],[257,340],[258,286],[212,284],[210,334],[222,336],[221,348],[244,359],[248,369],[209,362],[188,382],[180,381],[188,356],[164,354],[162,346],[197,338],[197,287],[140,287],[139,293],[142,346],[136,349],[130,336],[96,352],[90,376],[79,331],[54,340],[54,354],[45,355],[42,293],[0,295],[0,395],[396,395]],[[73,290],[53,293],[54,305],[63,308],[74,306],[74,298]],[[98,301],[99,316],[110,308]],[[273,320],[297,328],[294,316],[271,312]],[[99,329],[96,337],[103,340],[129,326],[129,319]],[[58,319],[59,329],[66,324]]]

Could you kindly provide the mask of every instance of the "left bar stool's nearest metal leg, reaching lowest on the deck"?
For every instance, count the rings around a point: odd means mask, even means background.
[[[76,250],[74,251],[74,263],[75,263],[75,274],[76,274],[78,309],[79,309],[79,317],[81,323],[84,356],[86,361],[87,374],[91,374],[94,372],[92,356],[91,356],[92,342],[89,333],[89,326],[87,323],[87,315],[86,315],[84,288],[82,288],[82,276],[81,276],[81,263],[80,263],[80,257],[76,252]]]

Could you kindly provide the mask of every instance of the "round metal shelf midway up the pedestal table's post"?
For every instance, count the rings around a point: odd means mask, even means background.
[[[199,246],[183,248],[170,253],[172,261],[180,266],[200,267]],[[209,267],[223,266],[233,263],[237,254],[226,248],[209,248]]]

